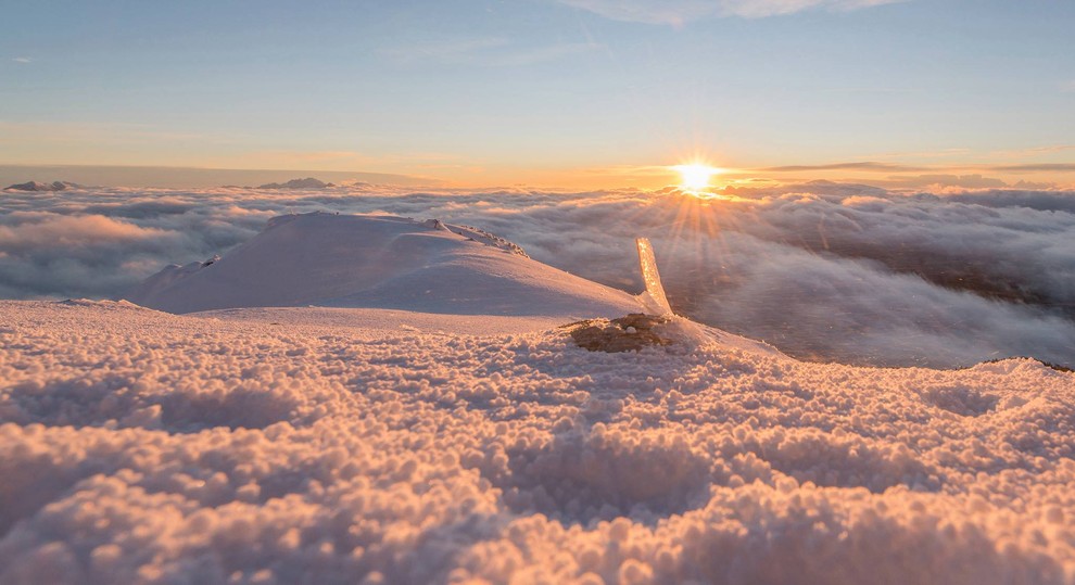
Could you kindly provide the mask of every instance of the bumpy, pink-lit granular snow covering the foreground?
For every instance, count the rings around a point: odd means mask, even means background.
[[[455,318],[0,303],[0,583],[1075,581],[1070,373]]]

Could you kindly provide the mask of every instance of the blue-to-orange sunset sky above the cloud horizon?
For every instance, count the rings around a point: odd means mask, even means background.
[[[1072,2],[2,3],[0,165],[1075,185]]]

